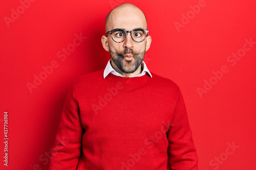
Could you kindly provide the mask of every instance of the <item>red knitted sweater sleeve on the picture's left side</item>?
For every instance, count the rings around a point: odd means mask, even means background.
[[[61,114],[49,170],[75,170],[81,156],[82,125],[74,86],[70,88]]]

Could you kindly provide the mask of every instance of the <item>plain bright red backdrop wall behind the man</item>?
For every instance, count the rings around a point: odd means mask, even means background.
[[[199,168],[256,169],[256,44],[235,65],[227,61],[243,48],[245,39],[256,41],[256,1],[205,0],[193,16],[190,5],[200,2],[45,0],[25,9],[18,0],[2,1],[0,136],[4,140],[4,111],[8,111],[8,169],[48,169],[45,154],[53,147],[67,90],[76,77],[105,68],[110,55],[101,44],[104,19],[121,3],[138,6],[147,17],[152,36],[144,59],[147,67],[181,88]],[[8,23],[12,9],[20,14]],[[174,23],[181,23],[187,13],[190,19],[178,32]],[[87,38],[61,61],[57,53],[80,33]],[[34,75],[43,74],[42,66],[54,60],[57,68],[30,92],[27,83],[33,84]],[[223,65],[228,72],[212,78],[212,71]],[[200,96],[197,89],[204,88],[205,80],[214,85]],[[227,143],[233,142],[239,148],[225,154]],[[0,168],[7,169],[1,143]],[[223,161],[217,163],[220,156]]]

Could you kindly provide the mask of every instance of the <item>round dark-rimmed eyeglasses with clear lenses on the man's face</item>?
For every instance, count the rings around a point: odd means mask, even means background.
[[[114,29],[106,32],[106,37],[108,37],[107,35],[110,34],[113,41],[120,43],[125,40],[125,38],[127,37],[127,33],[131,33],[131,37],[135,42],[142,42],[144,41],[146,36],[148,36],[149,32],[150,31],[147,31],[142,28],[137,28],[137,29],[134,29],[133,31],[125,31],[123,29]]]

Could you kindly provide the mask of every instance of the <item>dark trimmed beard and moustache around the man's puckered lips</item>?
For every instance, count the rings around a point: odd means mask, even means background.
[[[124,57],[127,54],[132,55],[134,60],[124,60]],[[117,52],[112,52],[110,50],[110,56],[112,61],[122,72],[132,73],[139,68],[142,60],[144,59],[145,51],[136,54],[132,49],[125,48],[121,54],[118,54]]]

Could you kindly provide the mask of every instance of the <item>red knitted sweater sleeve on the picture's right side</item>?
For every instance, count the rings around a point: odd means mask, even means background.
[[[172,170],[198,170],[198,157],[188,123],[183,96],[179,90],[175,111],[167,131],[168,165]]]

